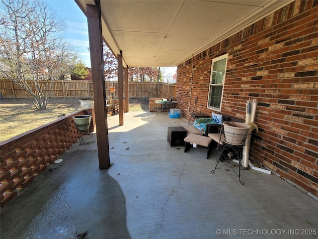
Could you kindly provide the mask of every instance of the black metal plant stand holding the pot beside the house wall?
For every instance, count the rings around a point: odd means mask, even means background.
[[[217,169],[219,169],[220,171],[226,172],[230,175],[238,176],[240,184],[244,185],[244,181],[240,179],[240,171],[245,169],[242,166],[242,153],[243,147],[246,145],[247,134],[240,145],[231,144],[226,140],[223,125],[219,129],[219,135],[222,144],[220,143],[218,148],[221,149],[221,153],[217,159],[217,164],[211,173],[214,173]],[[238,161],[239,165],[233,162],[233,160]],[[237,172],[236,168],[239,168],[239,172]]]

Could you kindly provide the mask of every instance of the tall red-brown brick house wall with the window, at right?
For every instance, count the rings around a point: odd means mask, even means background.
[[[213,58],[229,53],[221,113],[245,118],[257,99],[251,158],[318,196],[318,1],[296,0],[193,57],[177,69],[176,98],[189,117],[211,114]],[[190,111],[188,107],[190,106]]]

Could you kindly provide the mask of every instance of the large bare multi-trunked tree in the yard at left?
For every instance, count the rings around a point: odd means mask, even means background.
[[[0,13],[0,72],[45,110],[53,80],[76,55],[62,38],[65,24],[45,1],[1,0]]]

